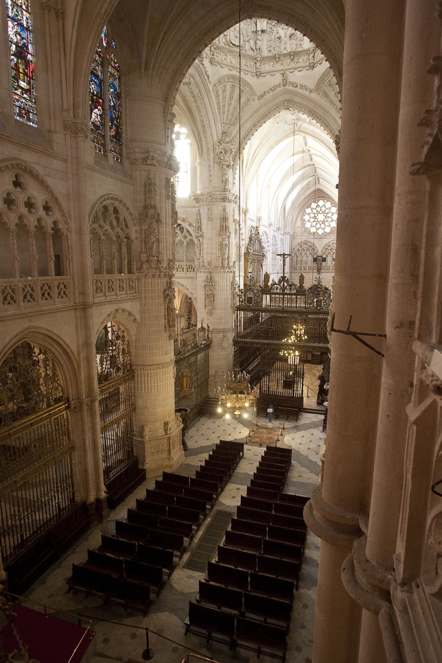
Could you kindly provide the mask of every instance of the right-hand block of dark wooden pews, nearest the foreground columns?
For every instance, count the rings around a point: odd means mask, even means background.
[[[283,493],[292,462],[290,449],[267,447],[237,507],[236,517],[207,567],[188,631],[203,632],[285,660],[294,591],[307,535],[303,506],[308,498]]]

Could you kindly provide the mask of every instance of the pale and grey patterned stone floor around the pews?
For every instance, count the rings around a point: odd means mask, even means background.
[[[225,417],[199,417],[187,430],[188,451],[185,453],[185,463],[178,467],[177,472],[194,474],[195,469],[204,462],[204,458],[220,438],[244,440],[254,421],[252,418],[241,418],[241,421],[237,421]],[[264,424],[266,421],[260,417],[259,423]],[[320,413],[310,412],[301,412],[296,422],[290,419],[284,421],[283,437],[279,445],[292,447],[293,461],[286,491],[310,495],[316,486],[320,469],[319,456],[325,437],[322,423],[323,417]],[[281,426],[281,421],[277,422],[277,426]],[[244,458],[218,499],[216,509],[235,511],[241,495],[246,493],[251,473],[263,452],[264,448],[258,445],[245,446]],[[93,526],[62,559],[32,585],[26,596],[51,606],[52,609],[65,610],[75,615],[81,613],[93,618],[97,634],[91,648],[91,663],[127,661],[128,658],[142,660],[141,653],[146,648],[146,636],[143,630],[136,627],[146,626],[150,629],[150,648],[154,651],[154,660],[157,663],[181,663],[189,650],[220,663],[232,660],[239,663],[258,663],[256,654],[246,649],[238,648],[237,651],[230,652],[225,644],[207,645],[205,639],[200,636],[191,633],[184,635],[183,622],[187,616],[189,600],[195,598],[198,581],[203,577],[201,573],[183,568],[195,543],[181,559],[146,618],[135,611],[125,612],[117,605],[104,606],[100,598],[86,598],[81,592],[67,594],[66,580],[71,575],[72,563],[84,561],[87,549],[100,545],[101,534],[114,531],[115,518],[124,517],[126,509],[135,505],[135,498],[145,496],[146,487],[151,488],[153,485],[154,478],[146,480],[125,502],[110,512],[105,522]],[[206,522],[209,522],[209,519]],[[206,526],[201,528],[196,541]],[[318,554],[319,541],[309,533],[288,638],[287,660],[290,663],[305,663],[312,657]],[[104,619],[114,620],[118,624],[106,623]],[[274,659],[266,656],[259,658],[261,663],[270,663],[272,660]]]

